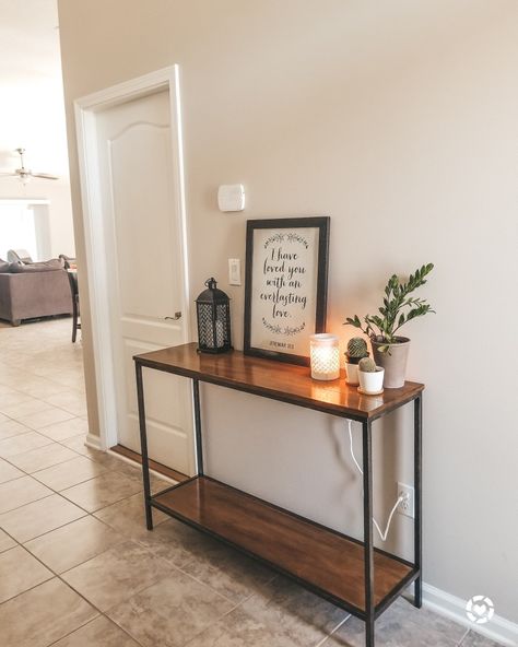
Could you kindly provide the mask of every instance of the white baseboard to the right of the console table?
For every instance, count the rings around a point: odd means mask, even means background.
[[[429,584],[423,584],[423,604],[431,611],[445,615],[473,632],[495,640],[505,647],[518,647],[518,624],[496,613],[486,624],[475,624],[466,615],[466,602],[451,593],[447,593]]]

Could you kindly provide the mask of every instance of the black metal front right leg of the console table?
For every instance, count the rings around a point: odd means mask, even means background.
[[[373,443],[372,423],[363,423],[363,528],[365,545],[365,645],[374,647]]]

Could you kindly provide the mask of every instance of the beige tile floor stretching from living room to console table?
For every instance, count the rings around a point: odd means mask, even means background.
[[[268,568],[161,513],[144,530],[140,470],[84,445],[70,333],[0,327],[0,645],[363,646],[360,621]],[[495,644],[401,599],[377,645]]]

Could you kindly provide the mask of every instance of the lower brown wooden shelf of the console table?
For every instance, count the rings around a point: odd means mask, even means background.
[[[209,532],[358,617],[365,617],[364,544],[208,477],[156,494],[152,505]],[[381,612],[417,576],[402,560],[374,551],[374,597]]]

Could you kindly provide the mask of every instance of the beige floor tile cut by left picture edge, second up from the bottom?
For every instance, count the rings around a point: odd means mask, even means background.
[[[52,577],[54,574],[22,546],[0,553],[0,603]]]

